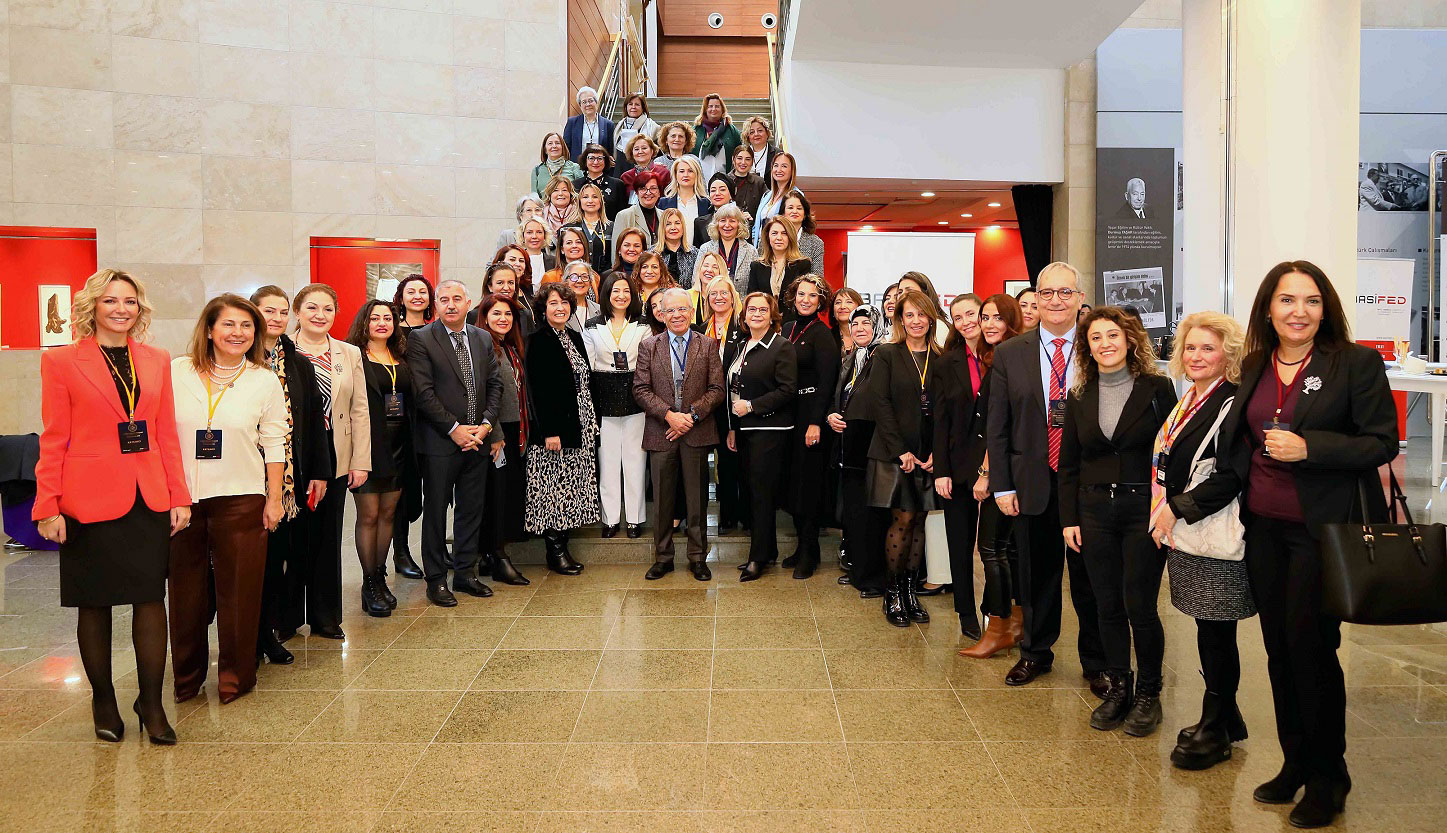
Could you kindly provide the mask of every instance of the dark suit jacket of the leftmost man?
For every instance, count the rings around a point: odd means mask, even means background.
[[[502,375],[492,350],[492,336],[472,324],[463,324],[463,331],[478,390],[478,424],[489,422],[496,428]],[[440,320],[408,333],[407,367],[412,372],[417,401],[417,418],[412,421],[417,453],[436,457],[460,453],[449,434],[453,425],[467,422],[467,386],[451,337]]]

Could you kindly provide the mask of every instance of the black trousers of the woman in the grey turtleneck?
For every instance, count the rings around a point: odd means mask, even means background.
[[[1106,664],[1130,671],[1134,638],[1137,685],[1159,693],[1166,635],[1156,599],[1166,558],[1147,529],[1150,486],[1081,486],[1079,506],[1081,555],[1095,591]]]

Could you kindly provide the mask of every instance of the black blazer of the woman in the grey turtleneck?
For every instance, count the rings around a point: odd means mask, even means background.
[[[1079,487],[1107,483],[1150,483],[1156,434],[1175,408],[1168,376],[1140,375],[1120,411],[1116,431],[1100,430],[1100,380],[1065,396],[1061,431],[1061,525],[1079,526]]]

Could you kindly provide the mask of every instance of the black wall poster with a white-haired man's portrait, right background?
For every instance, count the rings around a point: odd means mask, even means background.
[[[1136,307],[1152,337],[1175,318],[1175,174],[1174,148],[1095,150],[1095,299]]]

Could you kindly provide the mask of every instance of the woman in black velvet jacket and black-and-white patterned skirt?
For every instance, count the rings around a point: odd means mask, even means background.
[[[543,534],[547,567],[577,576],[570,529],[598,524],[598,415],[589,389],[587,349],[567,325],[576,296],[544,283],[532,299],[538,330],[528,338],[527,531]]]

